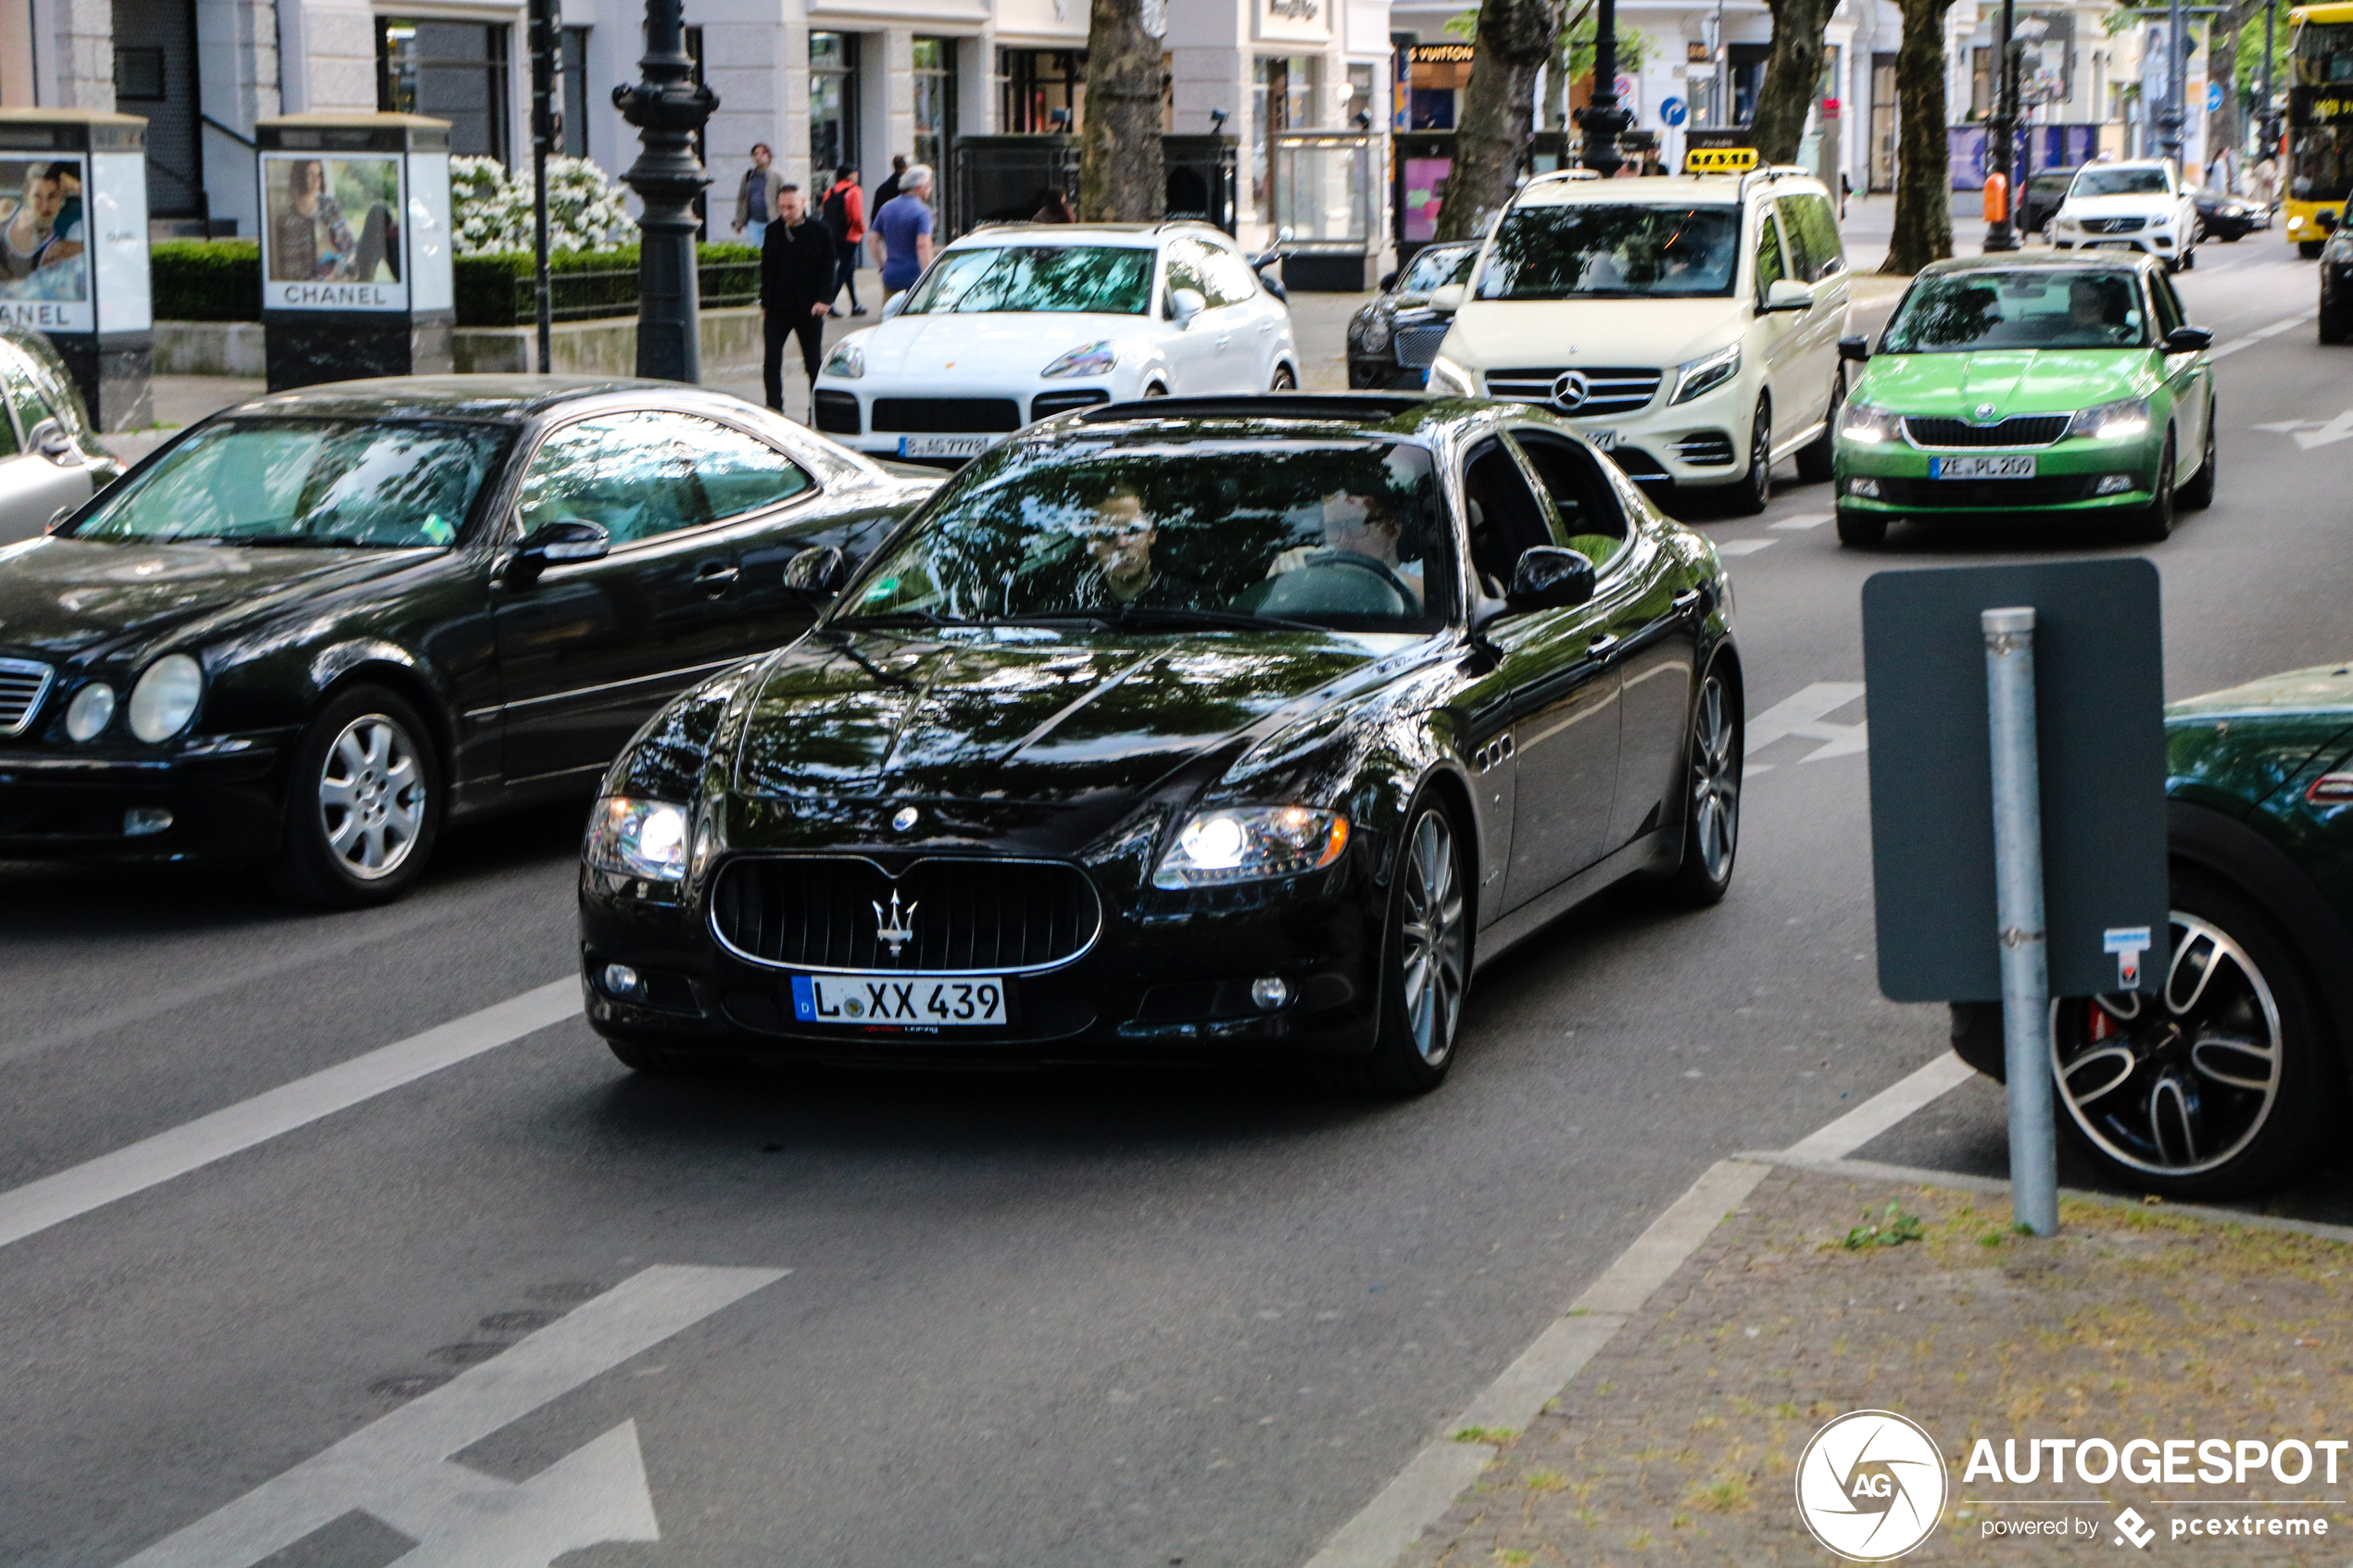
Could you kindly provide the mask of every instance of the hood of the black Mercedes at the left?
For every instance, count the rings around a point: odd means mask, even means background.
[[[254,550],[28,538],[0,550],[0,649],[64,663],[409,569],[440,550]]]

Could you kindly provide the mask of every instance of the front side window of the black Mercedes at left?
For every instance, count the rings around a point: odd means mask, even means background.
[[[711,522],[694,456],[711,425],[685,414],[605,414],[565,425],[539,444],[515,505],[522,531],[579,520],[614,548]]]

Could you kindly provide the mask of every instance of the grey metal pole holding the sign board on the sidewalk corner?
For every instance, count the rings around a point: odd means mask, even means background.
[[[2009,1206],[2059,1234],[2052,1124],[2049,947],[2042,933],[2042,773],[2035,755],[2035,611],[1988,609],[1986,715],[1993,741],[1993,896],[2002,940],[2002,1058],[2009,1079]]]

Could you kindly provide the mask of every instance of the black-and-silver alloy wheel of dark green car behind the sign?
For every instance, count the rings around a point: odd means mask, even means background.
[[[2052,1004],[2052,1072],[2075,1126],[2148,1175],[2228,1164],[2280,1103],[2280,1004],[2224,929],[2174,910],[2155,997],[2118,992]]]

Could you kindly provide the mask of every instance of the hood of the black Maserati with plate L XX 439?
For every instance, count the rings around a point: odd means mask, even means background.
[[[1285,710],[1377,679],[1386,654],[1419,642],[1038,628],[805,637],[762,672],[734,790],[786,802],[1132,804]]]

